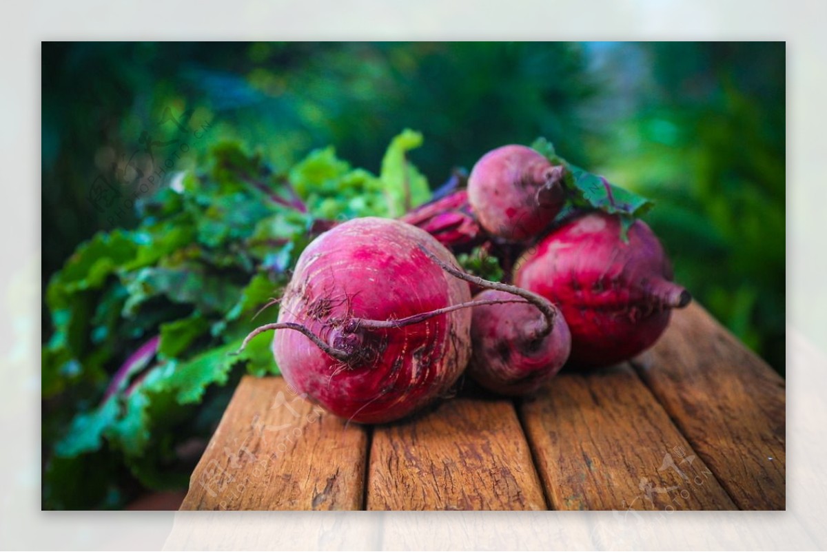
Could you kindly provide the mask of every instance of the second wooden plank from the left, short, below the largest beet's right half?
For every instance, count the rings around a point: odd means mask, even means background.
[[[414,420],[375,426],[369,510],[544,510],[514,405],[455,398]]]

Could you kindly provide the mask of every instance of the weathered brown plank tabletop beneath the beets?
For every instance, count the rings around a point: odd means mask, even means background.
[[[241,380],[182,510],[783,510],[785,384],[691,305],[630,363],[347,423]]]

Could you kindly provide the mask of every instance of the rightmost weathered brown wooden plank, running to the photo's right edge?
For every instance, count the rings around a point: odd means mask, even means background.
[[[784,380],[699,305],[674,312],[638,373],[744,510],[785,508]]]

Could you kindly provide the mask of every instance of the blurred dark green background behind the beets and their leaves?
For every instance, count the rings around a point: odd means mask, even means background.
[[[167,108],[211,125],[177,169],[230,138],[275,169],[333,145],[378,173],[412,128],[437,186],[545,136],[652,198],[676,280],[784,374],[785,58],[781,42],[44,43],[43,287],[79,243],[139,223],[88,193]]]

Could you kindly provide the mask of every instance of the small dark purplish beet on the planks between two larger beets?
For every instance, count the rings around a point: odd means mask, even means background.
[[[503,291],[486,290],[475,300],[508,297]],[[528,302],[474,307],[468,374],[495,393],[537,391],[566,364],[571,350],[571,334],[563,317],[554,316],[552,331],[543,334],[546,323],[543,313]]]

